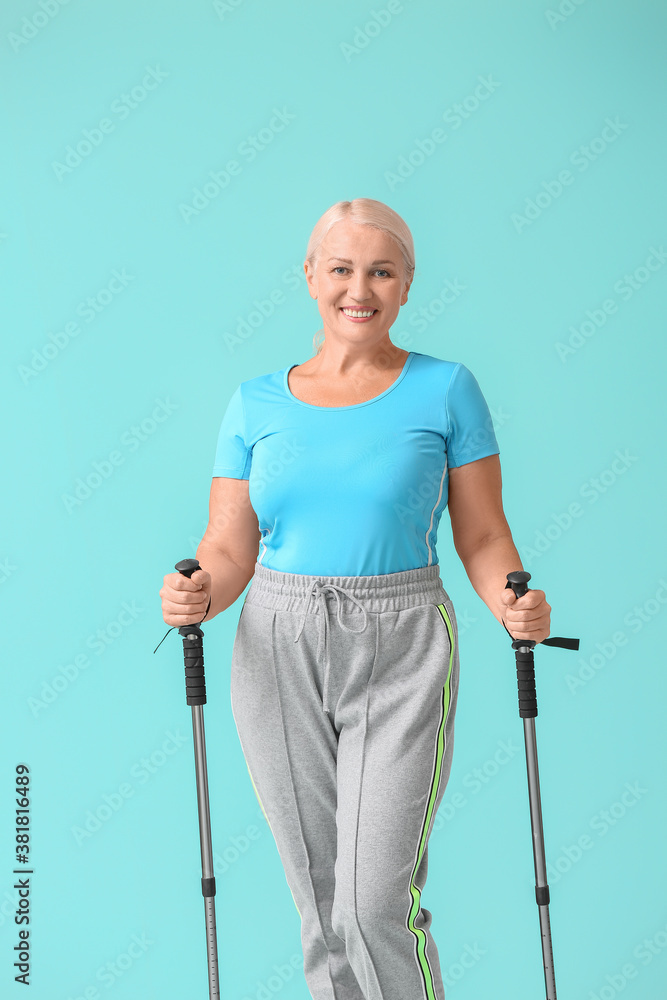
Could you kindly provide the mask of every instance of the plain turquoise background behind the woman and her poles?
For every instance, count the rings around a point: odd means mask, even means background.
[[[0,22],[2,995],[24,995],[19,762],[31,769],[30,996],[207,995],[190,711],[178,633],[153,655],[158,591],[206,527],[231,393],[313,353],[312,227],[364,196],[415,241],[391,338],[477,377],[524,567],[552,633],[581,638],[578,653],[536,656],[559,996],[665,997],[664,5],[7,0]],[[150,68],[154,89],[123,112]],[[292,117],[250,160],[242,144],[275,109]],[[54,166],[102,119],[113,127],[91,133],[77,165]],[[607,119],[617,134],[599,141]],[[437,128],[446,138],[424,152]],[[195,189],[233,159],[239,172],[188,218]],[[114,271],[127,284],[109,294]],[[438,310],[448,281],[464,290]],[[276,290],[284,300],[238,335]],[[422,904],[448,997],[528,1000],[544,984],[513,652],[447,517],[438,553],[462,673]],[[205,640],[223,995],[304,1000],[298,914],[229,703],[241,602]],[[501,741],[516,749],[502,766]],[[115,808],[77,837],[105,796]],[[464,970],[467,946],[480,957]]]

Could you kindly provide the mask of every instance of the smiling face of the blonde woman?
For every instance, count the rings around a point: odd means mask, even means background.
[[[381,341],[408,300],[411,280],[404,280],[401,252],[372,226],[337,222],[322,241],[315,274],[308,262],[304,268],[327,337]]]

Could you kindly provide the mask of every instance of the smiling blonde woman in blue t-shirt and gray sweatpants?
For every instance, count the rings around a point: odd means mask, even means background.
[[[160,591],[165,622],[184,625],[252,581],[232,709],[315,1000],[444,997],[420,896],[459,679],[435,548],[446,505],[491,613],[515,638],[549,635],[543,591],[517,600],[505,587],[522,567],[479,385],[389,338],[414,267],[388,206],[357,198],[324,213],[304,264],[324,341],[232,395],[197,550],[206,569],[167,574]]]

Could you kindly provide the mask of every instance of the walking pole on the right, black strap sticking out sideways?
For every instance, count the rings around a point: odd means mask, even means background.
[[[511,587],[518,597],[528,591],[530,573],[517,570],[507,574],[505,589]],[[503,623],[504,624],[504,623]],[[505,629],[512,635],[507,626]],[[530,824],[533,831],[533,861],[535,863],[535,899],[539,908],[540,930],[542,933],[542,961],[547,1000],[556,1000],[556,976],[549,921],[549,885],[547,883],[547,863],[544,854],[544,831],[542,829],[542,801],[540,797],[540,775],[537,767],[537,742],[535,739],[535,718],[537,716],[537,692],[535,689],[535,667],[533,662],[533,639],[515,639],[512,649],[516,653],[516,674],[519,691],[519,716],[523,719],[523,735],[526,745],[526,767],[528,770],[528,799],[530,802]],[[545,646],[562,646],[565,649],[579,649],[578,639],[563,639],[560,636],[542,640]]]

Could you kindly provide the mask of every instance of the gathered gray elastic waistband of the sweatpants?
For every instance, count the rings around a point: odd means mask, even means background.
[[[315,585],[327,584],[351,594],[367,611],[402,611],[420,604],[442,604],[449,595],[440,579],[440,566],[422,566],[380,576],[307,576],[283,573],[255,564],[246,604],[260,604],[280,611],[303,611]],[[317,604],[314,602],[316,611]],[[450,602],[451,603],[451,602]]]

